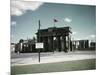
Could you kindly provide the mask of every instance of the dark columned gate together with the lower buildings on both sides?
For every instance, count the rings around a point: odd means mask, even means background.
[[[95,43],[89,40],[71,40],[70,27],[51,27],[47,29],[40,29],[37,31],[37,41],[35,38],[23,40],[20,39],[19,43],[15,45],[15,52],[38,52],[35,48],[36,42],[43,43],[41,52],[54,52],[54,51],[74,51],[74,50],[94,50]]]

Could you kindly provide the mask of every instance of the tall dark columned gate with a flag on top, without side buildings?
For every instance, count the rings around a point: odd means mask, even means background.
[[[71,28],[70,27],[52,27],[38,30],[37,42],[44,43],[44,52],[53,51],[72,51],[71,47]]]

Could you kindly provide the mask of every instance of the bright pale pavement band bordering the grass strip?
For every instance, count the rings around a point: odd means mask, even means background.
[[[41,53],[42,54],[42,53]],[[41,57],[40,63],[38,62],[37,57],[28,57],[28,58],[16,58],[11,59],[11,66],[15,65],[29,65],[29,64],[43,64],[43,63],[54,63],[54,62],[63,62],[63,61],[73,61],[73,60],[84,60],[84,59],[95,59],[95,52],[90,51],[77,51],[77,52],[56,52],[48,56]]]

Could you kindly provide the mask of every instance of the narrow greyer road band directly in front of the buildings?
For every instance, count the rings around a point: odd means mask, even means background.
[[[46,52],[46,53],[41,53],[41,57],[44,56],[52,56],[52,55],[89,55],[89,54],[95,54],[95,51],[75,51],[75,52],[68,52],[68,53],[64,53],[64,52]],[[38,57],[38,53],[11,53],[11,59],[15,59],[15,58],[29,58],[29,57],[33,57],[36,58]]]

